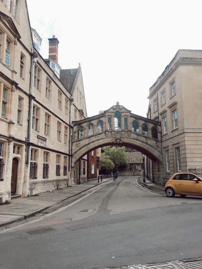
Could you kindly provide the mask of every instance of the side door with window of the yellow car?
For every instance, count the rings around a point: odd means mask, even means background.
[[[185,195],[200,195],[200,183],[193,181],[194,178],[200,179],[193,174],[182,174],[181,182],[179,183],[181,194]]]

